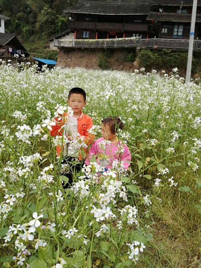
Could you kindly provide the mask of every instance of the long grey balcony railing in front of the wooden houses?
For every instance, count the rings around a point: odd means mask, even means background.
[[[186,39],[141,39],[141,37],[114,38],[114,39],[55,39],[57,47],[137,47],[140,48],[167,48],[187,50],[189,40]],[[201,40],[193,41],[193,50],[201,50]]]

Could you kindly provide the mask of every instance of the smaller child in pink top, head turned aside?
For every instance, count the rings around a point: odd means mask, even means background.
[[[131,161],[131,154],[128,147],[117,138],[118,129],[123,129],[123,122],[117,116],[107,117],[102,120],[101,134],[102,138],[96,139],[89,150],[89,154],[85,160],[85,164],[90,164],[92,157],[96,158],[96,163],[100,167],[112,168],[112,164],[121,162],[123,169],[128,169]],[[109,141],[109,142],[108,142]],[[118,165],[119,166],[119,165]]]

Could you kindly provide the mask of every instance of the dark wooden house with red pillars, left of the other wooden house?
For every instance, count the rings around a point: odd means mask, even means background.
[[[64,14],[68,15],[68,28],[74,32],[74,39],[146,38],[149,5],[79,0]]]

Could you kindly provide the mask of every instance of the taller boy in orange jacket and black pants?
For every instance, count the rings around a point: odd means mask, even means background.
[[[88,133],[88,130],[93,126],[93,122],[90,116],[84,114],[82,109],[86,105],[86,93],[82,88],[74,87],[68,93],[68,106],[73,110],[73,116],[68,117],[64,121],[64,128],[63,126],[63,118],[59,120],[59,118],[55,118],[54,121],[56,122],[55,126],[52,126],[52,130],[50,131],[51,136],[62,136],[62,131],[64,131],[64,135],[68,138],[69,141],[73,140],[73,137],[76,135],[80,135],[84,138],[85,145],[89,145],[94,136]],[[61,115],[63,117],[63,115]],[[66,114],[64,114],[64,117]],[[73,146],[64,146],[63,148],[63,162],[62,164],[67,164],[70,167],[70,172],[62,172],[61,175],[65,175],[68,177],[68,185],[71,185],[72,180],[72,173],[74,171],[79,172],[81,169],[81,162],[76,163],[73,165],[72,162],[75,161],[77,158],[82,160],[82,156],[78,155],[77,152],[73,152]],[[67,148],[66,148],[67,147]],[[86,146],[87,147],[87,146]],[[57,156],[60,155],[61,147],[57,146]],[[84,149],[87,152],[87,149]],[[70,164],[71,163],[71,164]],[[65,186],[64,186],[65,188]]]

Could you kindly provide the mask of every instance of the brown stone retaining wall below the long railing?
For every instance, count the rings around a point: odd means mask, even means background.
[[[100,69],[100,59],[103,61],[104,55],[104,63],[109,69],[133,72],[136,66],[133,62],[125,60],[127,54],[128,50],[122,48],[59,48],[56,66],[61,68]]]

